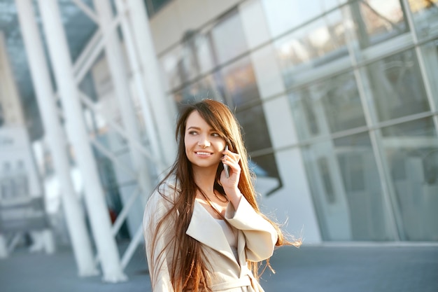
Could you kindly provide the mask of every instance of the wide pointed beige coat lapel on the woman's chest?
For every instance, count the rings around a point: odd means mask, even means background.
[[[222,227],[197,200],[195,200],[192,219],[185,233],[237,263]]]

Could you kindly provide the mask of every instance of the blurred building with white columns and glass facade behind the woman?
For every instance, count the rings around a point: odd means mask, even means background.
[[[27,130],[55,243],[76,228],[76,253],[114,253],[109,281],[204,98],[235,111],[262,209],[304,244],[438,241],[437,0],[2,0],[0,29],[1,130]]]

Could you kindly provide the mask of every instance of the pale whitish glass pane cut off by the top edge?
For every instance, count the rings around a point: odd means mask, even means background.
[[[346,0],[262,0],[272,36],[279,36],[341,5]]]

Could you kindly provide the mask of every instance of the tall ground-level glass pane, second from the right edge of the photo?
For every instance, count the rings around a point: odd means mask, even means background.
[[[334,139],[353,240],[389,240],[388,211],[368,133]]]

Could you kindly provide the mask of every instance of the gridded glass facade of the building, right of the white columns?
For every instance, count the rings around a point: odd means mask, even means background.
[[[437,5],[244,1],[160,54],[169,95],[236,110],[256,172],[278,180],[268,196],[293,176],[281,152],[298,149],[323,240],[436,241]]]

